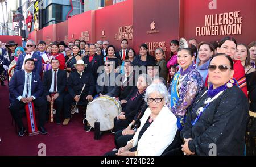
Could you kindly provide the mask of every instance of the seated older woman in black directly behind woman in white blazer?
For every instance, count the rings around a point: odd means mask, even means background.
[[[134,89],[125,107],[122,108],[122,112],[120,112],[120,114],[114,119],[115,132],[126,128],[131,123],[137,112],[139,112],[145,103],[143,96],[150,83],[151,77],[147,74],[141,74],[138,77],[137,89]]]

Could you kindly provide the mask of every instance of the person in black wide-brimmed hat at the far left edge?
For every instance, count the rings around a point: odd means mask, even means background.
[[[0,77],[1,85],[5,85],[3,81],[6,80],[6,78],[8,77],[5,71],[7,71],[11,61],[13,61],[14,59],[15,49],[17,45],[18,44],[15,43],[15,41],[11,40],[11,41],[8,41],[8,43],[5,45],[6,49],[2,49],[2,55],[0,55],[0,62],[2,61],[2,65],[1,65],[2,70],[1,70],[1,77]]]

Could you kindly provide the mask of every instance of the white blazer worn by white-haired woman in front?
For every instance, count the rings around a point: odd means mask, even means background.
[[[151,114],[150,108],[144,112],[141,118],[141,126],[138,128],[132,140],[133,147],[137,144],[139,156],[160,156],[164,150],[172,143],[177,132],[177,118],[171,110],[164,105],[156,119],[151,123],[150,127],[143,133],[138,142],[139,132],[146,123]],[[127,143],[127,144],[128,144]]]

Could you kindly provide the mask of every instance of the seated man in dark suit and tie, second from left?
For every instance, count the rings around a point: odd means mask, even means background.
[[[52,69],[44,72],[43,87],[44,95],[47,100],[47,111],[49,111],[49,103],[51,103],[51,94],[54,94],[53,100],[56,106],[56,123],[60,124],[60,111],[63,108],[63,98],[65,87],[67,86],[67,74],[64,70],[60,70],[59,60],[52,59]],[[47,112],[48,113],[48,112]],[[47,114],[48,116],[48,114]]]

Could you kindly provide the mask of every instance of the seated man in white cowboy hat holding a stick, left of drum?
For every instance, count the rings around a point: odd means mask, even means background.
[[[93,101],[92,95],[95,89],[95,81],[92,71],[85,70],[86,64],[82,60],[78,60],[74,66],[77,72],[70,74],[68,78],[68,94],[64,97],[65,120],[63,125],[68,125],[71,118],[71,103],[85,102],[87,104]],[[82,90],[84,84],[86,85],[84,90]]]

